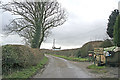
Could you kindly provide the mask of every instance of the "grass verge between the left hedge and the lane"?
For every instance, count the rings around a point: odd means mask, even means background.
[[[14,72],[7,76],[3,76],[3,78],[30,78],[38,70],[42,69],[47,62],[48,58],[44,57],[38,65],[23,69],[21,71]]]

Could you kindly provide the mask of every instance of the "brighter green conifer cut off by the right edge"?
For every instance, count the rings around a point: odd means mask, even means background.
[[[120,15],[118,16],[114,26],[114,43],[120,47]]]

